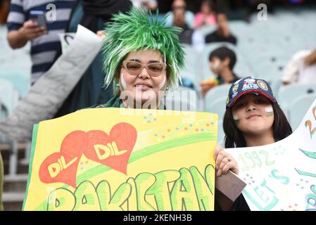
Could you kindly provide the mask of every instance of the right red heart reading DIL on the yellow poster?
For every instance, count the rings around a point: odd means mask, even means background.
[[[107,167],[127,174],[127,163],[137,140],[137,130],[125,122],[115,124],[110,135],[104,131],[88,132],[84,155]]]

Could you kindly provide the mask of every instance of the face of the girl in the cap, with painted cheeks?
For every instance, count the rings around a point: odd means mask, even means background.
[[[271,102],[262,95],[245,94],[232,106],[237,128],[246,135],[261,135],[272,131],[274,113]]]

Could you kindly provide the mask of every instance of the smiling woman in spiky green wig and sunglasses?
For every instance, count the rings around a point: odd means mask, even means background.
[[[168,89],[177,89],[181,81],[179,69],[184,66],[184,50],[179,44],[178,27],[167,27],[165,19],[148,18],[145,11],[132,8],[118,13],[108,23],[103,39],[103,71],[105,84],[113,84],[114,97],[96,108],[164,109],[163,96]],[[233,159],[231,155],[226,157]],[[221,154],[216,160],[222,174],[238,171],[236,160],[227,165]],[[216,192],[215,192],[216,193]],[[215,194],[215,209],[235,210],[228,198]],[[217,207],[218,205],[218,207]]]

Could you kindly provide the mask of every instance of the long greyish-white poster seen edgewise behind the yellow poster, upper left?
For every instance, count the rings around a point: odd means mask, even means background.
[[[0,123],[1,134],[18,141],[32,139],[33,125],[53,117],[99,53],[101,42],[94,32],[79,25],[68,51],[37,80],[13,113]]]

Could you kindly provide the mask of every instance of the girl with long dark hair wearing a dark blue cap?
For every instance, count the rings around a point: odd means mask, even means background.
[[[280,141],[292,133],[270,85],[254,77],[239,79],[230,87],[223,128],[225,148],[263,146]],[[228,168],[238,174],[236,160],[221,146],[215,148],[214,157],[217,175],[226,174]],[[242,195],[234,203],[234,209],[248,210]]]

